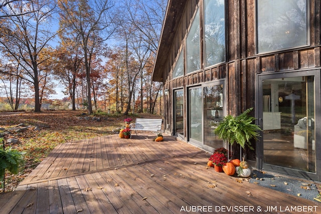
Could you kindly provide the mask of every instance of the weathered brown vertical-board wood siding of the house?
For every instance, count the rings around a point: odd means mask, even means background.
[[[166,63],[164,63],[162,70],[154,70],[154,73],[163,73],[164,89],[169,90],[169,95],[164,99],[164,131],[169,134],[173,134],[174,127],[173,90],[175,89],[183,89],[184,91],[184,118],[188,118],[188,88],[225,80],[225,113],[239,115],[247,108],[256,106],[257,75],[309,71],[320,67],[320,1],[308,1],[309,45],[263,54],[258,54],[256,48],[256,1],[225,1],[226,61],[204,68],[204,44],[201,37],[201,69],[190,74],[185,72],[184,76],[173,78],[173,69],[179,53],[186,52],[186,37],[198,8],[200,9],[200,32],[202,35],[203,4],[203,0],[188,0],[185,5],[182,5],[184,8],[182,16],[176,17],[179,20],[178,27],[172,29],[175,32],[175,37],[172,40],[170,51],[162,53],[167,56]],[[164,31],[165,29],[166,26],[164,26]],[[186,58],[184,58],[184,65],[186,65]],[[317,111],[320,112],[320,109]],[[252,114],[255,116],[255,112]],[[189,141],[187,119],[184,120],[183,140]],[[248,155],[250,159],[255,161],[256,154],[256,151],[250,151]]]

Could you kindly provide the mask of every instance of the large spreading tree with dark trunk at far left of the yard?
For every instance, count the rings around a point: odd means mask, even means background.
[[[49,73],[42,70],[42,64],[49,58],[42,53],[56,36],[49,25],[55,9],[56,4],[51,0],[28,1],[28,4],[24,1],[14,1],[7,5],[7,13],[12,16],[2,20],[0,29],[2,51],[11,55],[16,63],[21,65],[21,78],[32,85],[36,112],[41,110],[40,93],[45,92],[48,84]]]

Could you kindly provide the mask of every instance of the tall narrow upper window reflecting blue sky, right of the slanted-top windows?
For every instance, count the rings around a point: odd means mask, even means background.
[[[225,61],[224,1],[204,1],[205,67]]]

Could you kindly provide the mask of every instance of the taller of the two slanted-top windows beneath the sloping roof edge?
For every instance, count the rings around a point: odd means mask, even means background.
[[[186,70],[191,73],[201,69],[200,13],[196,12],[191,29],[186,38]]]

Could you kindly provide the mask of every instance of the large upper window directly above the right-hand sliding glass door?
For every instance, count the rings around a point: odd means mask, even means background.
[[[306,0],[259,0],[256,3],[258,53],[308,44]]]

